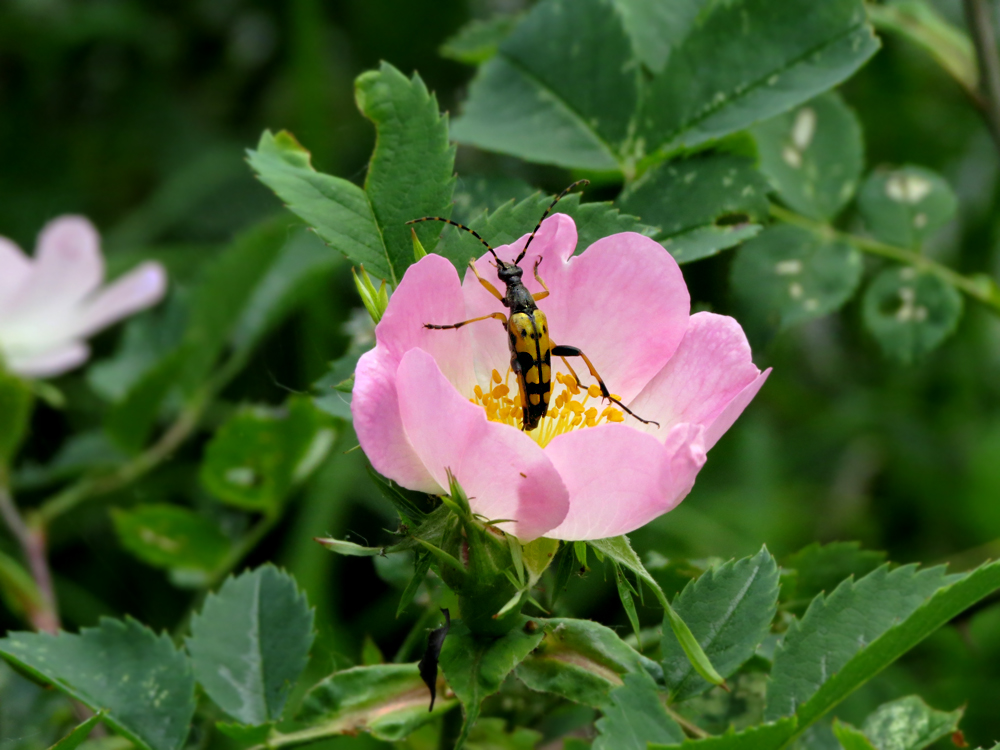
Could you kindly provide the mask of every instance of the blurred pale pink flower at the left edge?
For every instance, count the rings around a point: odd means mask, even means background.
[[[38,236],[29,258],[0,237],[0,367],[50,377],[86,361],[85,339],[158,302],[166,289],[159,263],[143,263],[100,288],[100,237],[82,216],[61,216]]]

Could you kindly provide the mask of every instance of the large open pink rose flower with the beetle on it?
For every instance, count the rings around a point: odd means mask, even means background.
[[[497,255],[511,262],[526,241]],[[539,306],[553,343],[582,349],[609,390],[659,427],[601,403],[582,363],[571,362],[577,387],[553,357],[548,415],[530,433],[518,429],[501,326],[423,327],[505,310],[471,270],[460,282],[438,255],[406,271],[355,375],[354,426],[375,470],[442,494],[450,469],[472,510],[510,519],[502,528],[522,542],[617,536],[672,510],[770,372],[754,366],[735,320],[690,314],[681,270],[659,244],[625,232],[574,256],[576,242],[571,218],[547,219],[520,264],[526,286],[541,291],[531,276],[541,256],[551,295]],[[489,260],[476,267],[496,285]]]

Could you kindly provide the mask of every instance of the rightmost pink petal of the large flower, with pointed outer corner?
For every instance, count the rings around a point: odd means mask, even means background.
[[[677,353],[629,404],[660,428],[637,424],[654,435],[668,434],[676,424],[706,428],[705,450],[728,430],[760,390],[770,370],[753,363],[750,344],[740,324],[725,315],[691,316]]]

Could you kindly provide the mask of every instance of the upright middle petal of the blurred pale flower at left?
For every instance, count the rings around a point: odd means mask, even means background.
[[[94,225],[82,216],[62,216],[38,236],[32,273],[4,307],[18,320],[51,319],[75,307],[103,278]]]

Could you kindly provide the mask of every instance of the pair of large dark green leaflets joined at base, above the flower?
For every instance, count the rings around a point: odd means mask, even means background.
[[[825,3],[821,12],[806,0],[801,11],[764,0],[717,3],[689,29],[683,19],[693,8],[685,3],[677,31],[687,33],[667,59],[669,37],[651,39],[659,23],[672,24],[670,14],[621,5],[624,13],[611,0],[535,6],[483,65],[455,138],[529,161],[630,175],[644,159],[811,99],[878,48],[858,0]],[[647,80],[637,58],[665,67]]]

